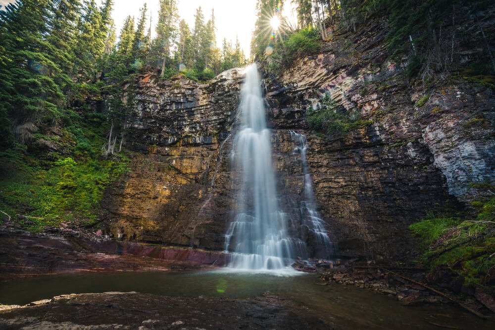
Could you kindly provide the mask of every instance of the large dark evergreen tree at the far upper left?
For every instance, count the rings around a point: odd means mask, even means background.
[[[49,0],[24,0],[0,11],[0,125],[2,146],[13,143],[15,125],[21,143],[33,139],[39,126],[61,116],[65,104],[63,73],[47,40],[51,17]],[[58,56],[58,61],[66,63]]]

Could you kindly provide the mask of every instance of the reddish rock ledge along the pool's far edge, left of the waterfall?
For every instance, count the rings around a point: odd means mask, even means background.
[[[78,272],[194,270],[223,266],[228,254],[121,242],[80,232],[0,231],[0,281]]]

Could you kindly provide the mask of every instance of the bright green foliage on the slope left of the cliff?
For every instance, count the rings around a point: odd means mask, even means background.
[[[98,128],[74,128],[75,134],[67,132],[77,141],[73,152],[77,158],[40,160],[14,149],[1,153],[1,163],[9,169],[0,175],[0,209],[12,218],[15,214],[32,216],[19,221],[35,231],[62,221],[95,224],[103,190],[128,171],[128,159],[123,155],[100,159],[101,137],[95,129]],[[93,141],[88,138],[91,135]]]

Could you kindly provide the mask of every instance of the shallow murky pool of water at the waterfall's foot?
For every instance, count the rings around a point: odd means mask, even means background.
[[[137,291],[168,296],[247,298],[269,292],[336,329],[495,329],[449,305],[402,306],[393,297],[344,285],[318,285],[314,275],[281,277],[225,271],[123,272],[43,276],[0,284],[0,303],[26,304],[68,293]]]

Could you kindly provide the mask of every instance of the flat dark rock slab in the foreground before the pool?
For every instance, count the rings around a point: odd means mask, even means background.
[[[2,329],[329,329],[270,295],[240,300],[105,292],[0,307]]]

